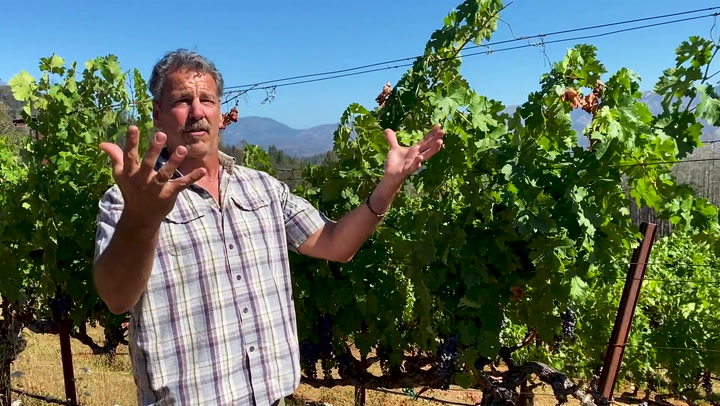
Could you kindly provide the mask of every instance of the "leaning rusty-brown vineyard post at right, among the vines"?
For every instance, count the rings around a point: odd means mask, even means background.
[[[613,327],[612,336],[608,343],[607,351],[605,351],[605,359],[603,360],[603,369],[600,374],[600,383],[598,390],[604,400],[610,402],[612,400],[613,388],[617,381],[620,364],[625,353],[625,344],[627,344],[630,335],[630,327],[635,316],[635,307],[637,306],[638,297],[640,296],[640,288],[645,278],[645,269],[650,258],[650,251],[655,242],[655,234],[657,224],[643,222],[640,225],[640,232],[643,233],[643,240],[633,252],[630,269],[625,279],[625,288],[623,289],[622,299],[618,307],[617,317],[615,318],[615,326]]]

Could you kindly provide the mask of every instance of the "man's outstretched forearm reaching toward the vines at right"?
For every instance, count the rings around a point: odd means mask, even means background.
[[[390,208],[395,196],[397,196],[402,183],[383,179],[370,195],[370,207],[362,204],[336,223],[329,223],[319,236],[319,247],[330,247],[330,252],[317,253],[314,256],[324,257],[330,260],[347,262],[352,259],[360,247],[375,232],[381,218],[378,214],[384,214]],[[372,209],[372,210],[371,210]],[[313,255],[313,253],[309,253]]]

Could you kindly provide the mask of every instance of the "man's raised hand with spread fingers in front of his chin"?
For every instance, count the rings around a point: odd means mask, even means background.
[[[204,168],[198,168],[172,179],[173,173],[187,155],[187,149],[183,146],[178,147],[167,163],[156,172],[155,162],[166,139],[164,133],[156,133],[142,161],[138,159],[140,133],[135,126],[128,129],[125,150],[109,142],[100,144],[100,149],[112,160],[113,177],[125,201],[124,212],[135,219],[162,220],[172,211],[177,195],[207,173]]]

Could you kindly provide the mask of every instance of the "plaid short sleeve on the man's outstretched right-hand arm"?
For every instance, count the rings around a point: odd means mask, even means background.
[[[278,182],[281,188],[280,197],[288,248],[293,252],[297,252],[298,247],[308,237],[330,222],[330,220],[306,199],[293,194],[287,184]]]

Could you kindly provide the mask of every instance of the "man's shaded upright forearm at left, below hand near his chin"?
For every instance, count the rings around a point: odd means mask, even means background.
[[[93,269],[95,288],[111,312],[130,310],[150,278],[159,224],[121,217],[107,248]]]

